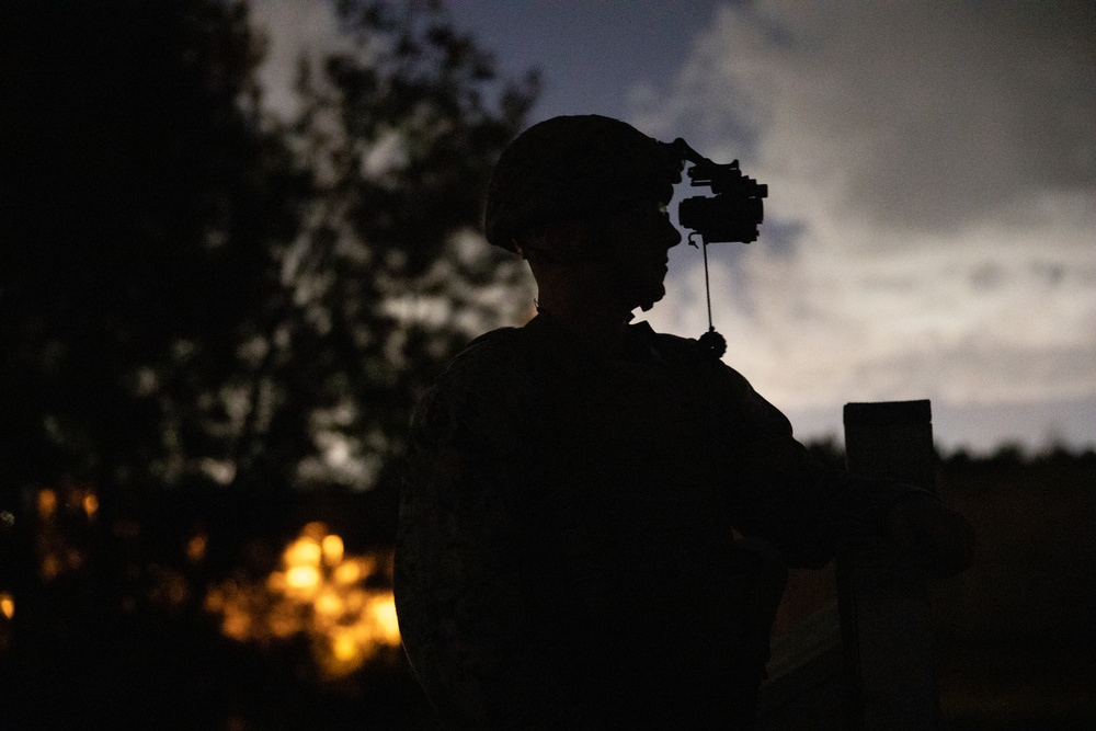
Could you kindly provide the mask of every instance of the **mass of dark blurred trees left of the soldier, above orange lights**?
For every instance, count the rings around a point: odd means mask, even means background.
[[[435,3],[342,2],[281,119],[242,3],[3,11],[0,480],[390,480],[418,389],[513,317],[471,231],[535,77]]]

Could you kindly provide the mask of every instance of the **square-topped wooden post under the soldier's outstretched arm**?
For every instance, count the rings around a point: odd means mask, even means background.
[[[932,408],[925,401],[845,404],[848,470],[935,488]],[[939,729],[928,587],[879,544],[837,557],[837,606],[848,724],[855,731]]]

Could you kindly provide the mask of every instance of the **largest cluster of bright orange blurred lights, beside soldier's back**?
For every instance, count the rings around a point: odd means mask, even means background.
[[[390,553],[347,555],[341,536],[309,523],[285,547],[279,570],[254,584],[225,582],[205,608],[240,641],[307,635],[319,670],[335,678],[400,644],[391,590],[365,589],[367,580],[390,585]]]

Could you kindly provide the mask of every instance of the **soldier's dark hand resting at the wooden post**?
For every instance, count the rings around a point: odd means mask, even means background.
[[[894,550],[938,579],[960,573],[974,561],[974,530],[959,513],[935,498],[906,500],[887,519]]]

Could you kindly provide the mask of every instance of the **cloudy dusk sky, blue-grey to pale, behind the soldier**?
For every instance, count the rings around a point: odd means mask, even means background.
[[[617,117],[768,185],[758,241],[709,248],[712,317],[801,439],[931,399],[945,449],[1096,447],[1096,3],[448,4],[504,73],[540,69],[530,124]],[[339,43],[321,2],[254,18],[272,87]],[[707,329],[699,251],[642,319]]]

